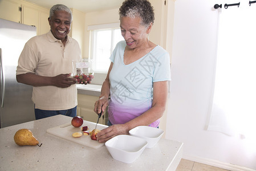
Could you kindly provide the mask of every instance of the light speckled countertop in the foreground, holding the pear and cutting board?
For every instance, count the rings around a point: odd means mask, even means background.
[[[51,135],[48,128],[71,122],[57,115],[0,129],[0,170],[176,170],[183,144],[160,139],[153,148],[145,148],[132,164],[114,160],[105,145],[93,149]],[[18,146],[14,135],[30,129],[42,146]]]

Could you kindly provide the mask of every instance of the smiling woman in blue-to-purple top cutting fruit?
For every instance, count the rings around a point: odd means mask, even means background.
[[[119,15],[124,41],[117,43],[112,52],[94,108],[100,113],[108,106],[109,127],[96,135],[100,143],[129,134],[139,125],[157,128],[165,111],[170,80],[168,52],[148,39],[155,19],[151,3],[126,0]]]

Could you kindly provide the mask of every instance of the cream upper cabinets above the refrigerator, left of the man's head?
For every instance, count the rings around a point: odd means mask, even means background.
[[[50,30],[48,15],[48,9],[26,1],[0,1],[0,18],[35,26],[36,35],[44,34]]]

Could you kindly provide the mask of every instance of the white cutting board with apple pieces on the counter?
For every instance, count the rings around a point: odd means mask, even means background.
[[[82,135],[81,137],[73,137],[72,136],[72,133],[74,133],[74,132],[82,132],[81,128],[85,127],[85,126],[88,127],[87,131],[91,132],[93,129],[95,129],[95,125],[96,125],[96,123],[92,123],[90,121],[84,120],[84,123],[81,127],[75,128],[71,125],[71,121],[70,121],[70,123],[59,125],[58,127],[49,128],[49,129],[47,129],[46,132],[48,132],[52,135],[58,136],[58,137],[62,137],[63,139],[70,140],[75,143],[82,144],[82,145],[97,149],[97,148],[100,148],[101,146],[103,146],[105,143],[99,143],[96,140],[92,140],[90,135],[88,135],[88,136]],[[99,130],[107,128],[107,127],[108,127],[107,125],[97,124],[97,129],[99,129]]]

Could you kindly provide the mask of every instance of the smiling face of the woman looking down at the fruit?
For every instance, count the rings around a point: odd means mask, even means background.
[[[128,48],[134,49],[138,47],[143,47],[147,42],[148,33],[151,30],[149,28],[141,25],[141,18],[135,17],[122,17],[120,19],[121,34]]]

